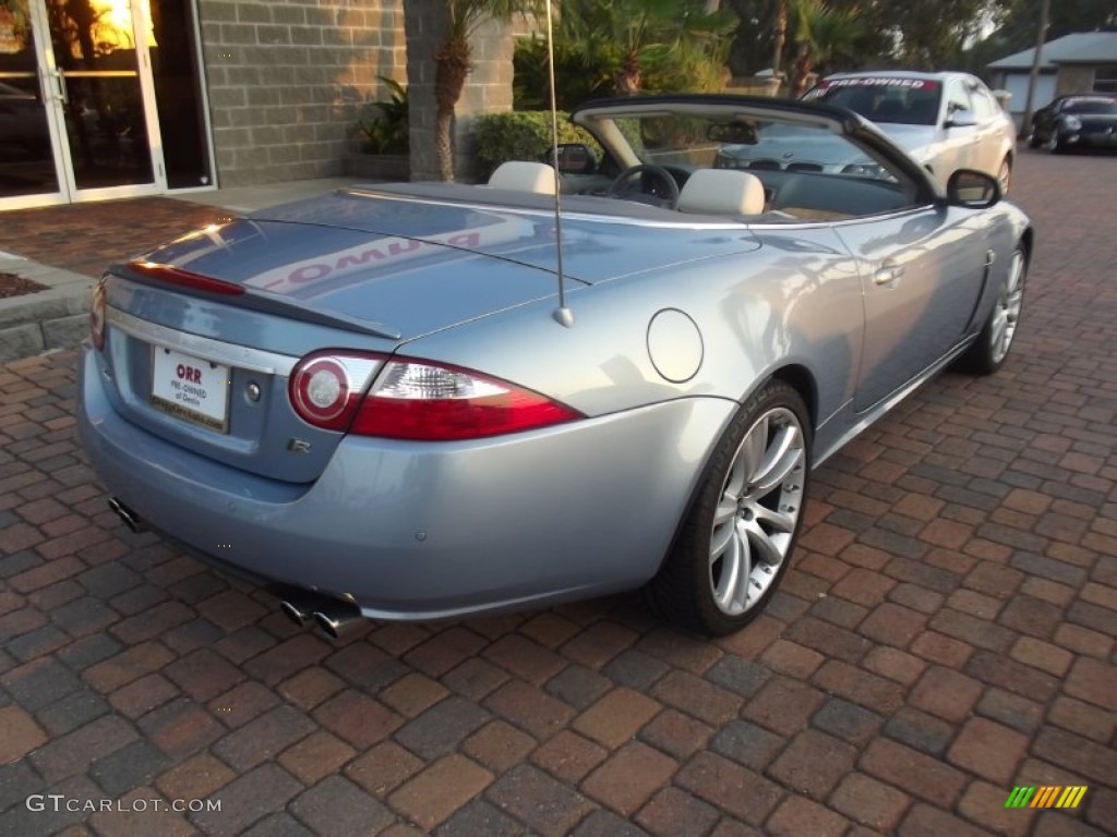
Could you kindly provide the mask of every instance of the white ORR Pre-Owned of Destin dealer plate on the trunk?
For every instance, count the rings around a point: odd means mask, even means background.
[[[152,346],[151,403],[171,415],[227,433],[229,367]]]

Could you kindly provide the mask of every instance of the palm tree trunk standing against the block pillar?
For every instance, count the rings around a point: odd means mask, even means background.
[[[535,6],[535,0],[446,0],[446,37],[435,52],[435,148],[442,180],[454,180],[454,110],[472,69],[470,36],[486,20],[508,20]]]

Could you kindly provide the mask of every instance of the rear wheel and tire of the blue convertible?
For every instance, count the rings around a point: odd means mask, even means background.
[[[724,636],[763,610],[799,538],[811,441],[803,400],[781,381],[768,381],[737,411],[648,585],[663,616],[685,629]]]

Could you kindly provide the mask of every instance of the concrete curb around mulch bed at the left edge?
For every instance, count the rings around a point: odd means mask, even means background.
[[[16,273],[47,287],[36,294],[0,299],[0,363],[73,348],[82,341],[94,279],[11,253],[0,254],[0,272]]]

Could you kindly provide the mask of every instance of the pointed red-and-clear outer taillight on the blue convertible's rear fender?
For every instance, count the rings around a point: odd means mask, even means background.
[[[483,439],[581,419],[504,381],[452,366],[394,359],[361,403],[352,433],[388,439]]]

